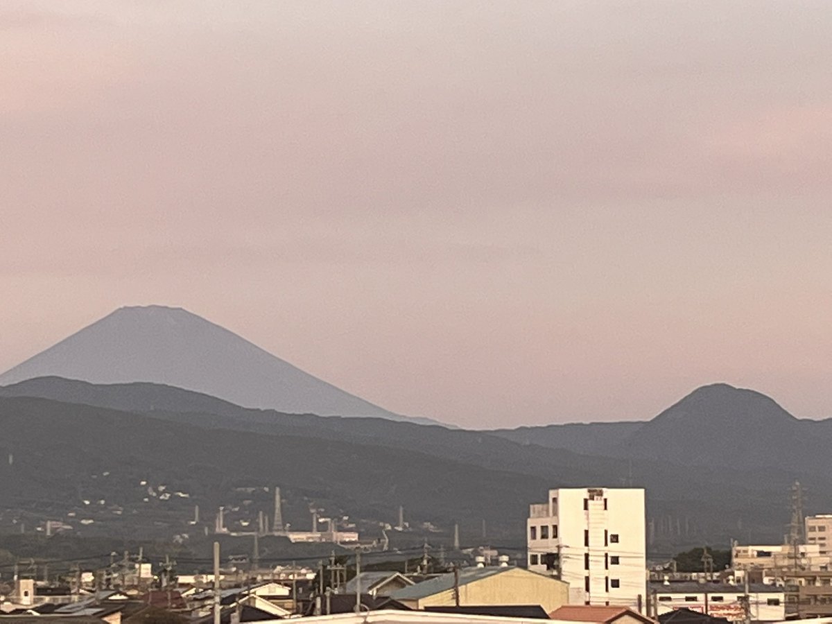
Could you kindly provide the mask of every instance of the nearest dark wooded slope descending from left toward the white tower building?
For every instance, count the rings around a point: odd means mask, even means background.
[[[49,512],[56,506],[95,513],[118,505],[130,513],[99,524],[136,531],[151,530],[154,522],[178,522],[186,530],[195,503],[215,509],[235,487],[280,484],[290,499],[288,519],[304,527],[305,501],[314,500],[371,521],[393,520],[399,504],[445,527],[454,520],[477,526],[486,518],[499,534],[522,520],[527,501],[546,488],[542,478],[403,448],[190,427],[46,399],[0,399],[0,431],[2,457],[14,456],[11,465],[0,463],[4,507],[40,508],[45,519],[55,518]],[[142,481],[164,483],[166,491],[189,498],[144,503]],[[105,509],[97,506],[99,499]]]

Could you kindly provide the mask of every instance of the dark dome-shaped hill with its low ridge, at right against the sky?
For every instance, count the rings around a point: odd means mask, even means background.
[[[832,420],[800,420],[754,390],[711,384],[644,422],[560,424],[491,432],[578,453],[701,468],[829,472]]]

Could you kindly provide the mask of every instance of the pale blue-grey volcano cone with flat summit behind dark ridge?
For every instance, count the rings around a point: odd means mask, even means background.
[[[317,379],[196,314],[160,305],[120,308],[0,374],[0,385],[47,376],[94,384],[167,384],[292,414],[409,419]]]

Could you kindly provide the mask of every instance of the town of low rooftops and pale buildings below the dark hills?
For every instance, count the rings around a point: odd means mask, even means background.
[[[168,556],[151,561],[141,549],[113,552],[103,565],[79,558],[69,569],[18,558],[2,566],[0,621],[747,624],[832,616],[832,514],[804,517],[800,483],[784,543],[701,547],[669,561],[647,555],[642,488],[549,490],[546,501],[529,503],[522,557],[463,544],[458,527],[447,547],[391,549],[315,510],[310,530],[294,531],[282,522],[280,488],[273,494],[270,520],[258,513],[250,532],[230,531],[218,510],[202,572]],[[62,531],[60,522],[43,528],[47,537]],[[399,522],[382,533],[407,531],[400,509]],[[225,555],[224,535],[250,539],[251,556]],[[338,551],[272,565],[259,545],[270,536]]]

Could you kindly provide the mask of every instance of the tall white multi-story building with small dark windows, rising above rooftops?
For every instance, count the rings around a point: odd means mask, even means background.
[[[646,610],[641,488],[561,488],[531,505],[528,567],[569,583],[571,604]]]

